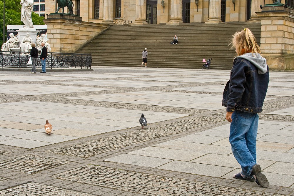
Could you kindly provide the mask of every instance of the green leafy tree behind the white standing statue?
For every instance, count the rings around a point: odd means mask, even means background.
[[[5,0],[5,34],[7,25],[22,25],[20,21],[21,4],[20,0]],[[32,21],[34,25],[44,24],[44,17],[32,12]],[[0,46],[3,44],[3,0],[0,0]]]

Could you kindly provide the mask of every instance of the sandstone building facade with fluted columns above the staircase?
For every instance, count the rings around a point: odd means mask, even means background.
[[[45,1],[45,0],[34,0]],[[258,19],[260,5],[272,0],[73,0],[74,13],[83,21],[113,24],[236,22]],[[285,2],[282,2],[285,3]],[[41,2],[39,3],[41,6]],[[36,4],[37,5],[37,4]],[[56,1],[46,1],[46,14],[54,13]],[[294,0],[288,0],[294,5]],[[61,10],[59,11],[61,12]],[[41,13],[41,12],[40,12]],[[42,13],[43,14],[43,13]]]

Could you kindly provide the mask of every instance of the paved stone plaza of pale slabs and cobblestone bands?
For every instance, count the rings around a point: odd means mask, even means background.
[[[259,114],[268,188],[232,177],[240,165],[221,106],[229,78],[140,66],[0,72],[0,195],[294,196],[294,72],[270,72]]]

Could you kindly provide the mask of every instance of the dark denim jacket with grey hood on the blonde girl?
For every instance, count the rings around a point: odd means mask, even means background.
[[[223,91],[222,105],[227,112],[262,112],[268,82],[268,66],[260,54],[238,56],[234,59],[230,80]]]

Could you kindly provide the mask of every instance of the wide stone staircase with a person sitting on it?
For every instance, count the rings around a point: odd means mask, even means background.
[[[140,67],[148,48],[148,67],[201,69],[203,58],[212,58],[210,69],[231,69],[235,50],[230,39],[249,28],[260,44],[260,23],[192,23],[181,25],[111,26],[75,53],[92,54],[92,66]],[[178,44],[172,45],[174,35]]]

